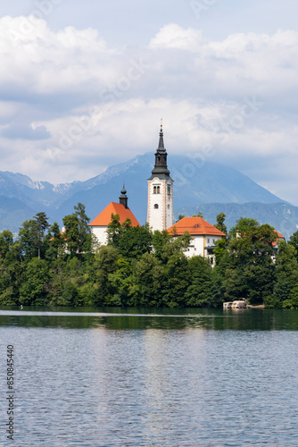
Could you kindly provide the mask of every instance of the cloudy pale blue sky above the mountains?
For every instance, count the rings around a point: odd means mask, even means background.
[[[84,181],[154,152],[162,118],[169,167],[228,164],[298,206],[297,16],[294,0],[2,2],[0,170]]]

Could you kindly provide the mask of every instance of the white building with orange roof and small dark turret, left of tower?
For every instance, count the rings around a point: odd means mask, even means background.
[[[125,190],[124,185],[121,190],[119,203],[109,203],[109,205],[105,207],[91,223],[89,223],[91,232],[96,236],[101,245],[106,245],[108,243],[107,229],[108,224],[112,222],[112,214],[120,216],[120,223],[124,223],[126,219],[130,219],[132,226],[140,226],[137,222],[137,218],[128,208],[127,190]]]

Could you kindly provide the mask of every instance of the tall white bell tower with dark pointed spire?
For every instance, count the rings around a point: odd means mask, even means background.
[[[173,180],[167,164],[161,123],[160,140],[155,152],[155,164],[148,181],[147,222],[155,230],[167,230],[173,224]]]

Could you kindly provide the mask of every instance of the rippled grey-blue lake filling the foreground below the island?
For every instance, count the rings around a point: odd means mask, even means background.
[[[298,445],[298,311],[5,307],[0,340],[0,445]]]

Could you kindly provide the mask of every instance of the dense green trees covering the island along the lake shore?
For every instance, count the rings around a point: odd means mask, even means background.
[[[227,232],[222,213],[216,226]],[[0,233],[0,305],[221,307],[244,298],[268,308],[298,308],[298,232],[278,241],[269,225],[241,218],[220,240],[217,263],[185,256],[190,236],[172,238],[112,215],[99,247],[85,207],[63,218],[65,232],[37,213]]]

